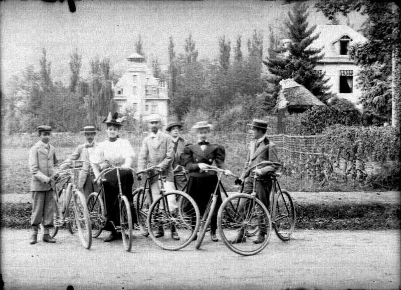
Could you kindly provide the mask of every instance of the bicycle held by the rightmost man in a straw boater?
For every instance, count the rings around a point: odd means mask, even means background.
[[[268,165],[281,164],[264,161],[248,169],[248,175],[252,170]],[[234,194],[221,205],[218,212],[218,228],[223,241],[232,251],[241,255],[259,253],[269,242],[272,225],[281,240],[290,239],[295,229],[295,207],[288,191],[281,190],[277,181],[279,175],[279,173],[270,174],[272,180],[270,213],[256,197],[255,185],[259,178],[253,179],[252,194]],[[233,205],[236,207],[233,208]],[[262,243],[254,243],[252,237],[256,234],[255,229],[258,232],[261,228],[265,232],[265,240]],[[246,234],[247,230],[253,234]],[[241,241],[233,242],[238,237],[242,237]]]

